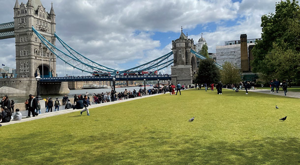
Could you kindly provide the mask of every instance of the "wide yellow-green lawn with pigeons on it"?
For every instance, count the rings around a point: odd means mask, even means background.
[[[188,90],[90,109],[90,114],[0,127],[0,164],[300,164],[298,98]]]

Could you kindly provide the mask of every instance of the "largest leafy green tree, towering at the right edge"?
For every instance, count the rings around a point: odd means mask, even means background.
[[[261,26],[262,40],[258,41],[252,49],[253,71],[260,72],[261,77],[265,78],[287,78],[286,74],[290,78],[296,78],[300,72],[300,6],[298,1],[286,0],[276,3],[275,14],[262,16]],[[295,67],[296,65],[298,67]],[[288,73],[287,69],[290,69]]]

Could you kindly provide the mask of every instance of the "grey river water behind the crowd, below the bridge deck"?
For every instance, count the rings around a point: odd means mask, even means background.
[[[130,91],[132,92],[134,89],[136,91],[140,90],[140,88],[144,89],[144,86],[143,87],[126,87],[126,88],[116,88],[116,91],[117,92],[124,92],[125,89],[127,89],[127,91]],[[153,87],[150,87],[150,86],[146,86],[146,89],[151,89]],[[69,94],[66,94],[69,98],[73,98],[75,94],[83,94],[85,95],[86,92],[89,93],[89,95],[92,95],[92,94],[101,94],[102,92],[105,93],[105,92],[111,92],[111,89],[110,88],[102,88],[102,89],[99,89],[99,88],[96,88],[96,89],[82,89],[82,90],[70,90],[70,93]],[[46,98],[48,97],[49,95],[41,95],[42,98]],[[59,98],[59,99],[62,99],[64,95],[50,95],[50,97],[52,97],[52,99],[56,99],[56,98]],[[8,96],[9,97],[9,96]],[[28,99],[29,97],[28,96],[20,96],[20,97],[9,97],[10,100],[14,100],[15,103],[24,103],[26,99]]]

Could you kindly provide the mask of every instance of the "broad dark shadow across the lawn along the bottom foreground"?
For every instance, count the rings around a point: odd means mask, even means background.
[[[204,137],[177,136],[171,134],[159,136],[148,132],[145,136],[109,134],[86,135],[77,140],[73,136],[61,136],[60,141],[37,146],[32,138],[38,134],[29,134],[24,143],[14,145],[10,151],[26,149],[26,157],[20,164],[180,164],[180,165],[299,165],[300,140],[298,138],[263,138],[260,140],[240,140],[234,142],[203,142]],[[33,142],[33,143],[32,143]],[[21,146],[20,146],[21,145]],[[48,147],[47,147],[48,146]],[[77,146],[76,148],[72,148]],[[8,156],[4,149],[3,156]],[[5,152],[4,152],[5,151]],[[6,153],[6,154],[5,154]],[[6,159],[14,164],[15,152]],[[47,155],[45,155],[47,154]],[[17,154],[18,155],[18,154]],[[72,157],[70,157],[72,155]],[[20,156],[20,155],[19,155]],[[20,156],[21,157],[21,156]],[[19,157],[19,158],[20,158]]]

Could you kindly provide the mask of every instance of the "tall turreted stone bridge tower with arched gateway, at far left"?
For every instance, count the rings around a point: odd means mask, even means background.
[[[14,6],[17,77],[34,78],[56,76],[56,56],[45,47],[31,29],[33,26],[44,38],[55,45],[55,13],[53,4],[46,12],[40,0]]]

